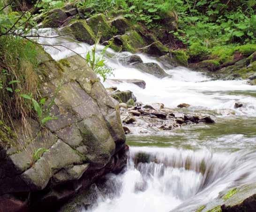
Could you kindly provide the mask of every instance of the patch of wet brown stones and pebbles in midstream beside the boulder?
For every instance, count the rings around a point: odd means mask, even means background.
[[[131,134],[154,134],[190,124],[215,123],[210,116],[178,113],[171,108],[165,108],[162,103],[122,107],[120,108],[120,115],[123,126],[128,127],[128,133]]]

